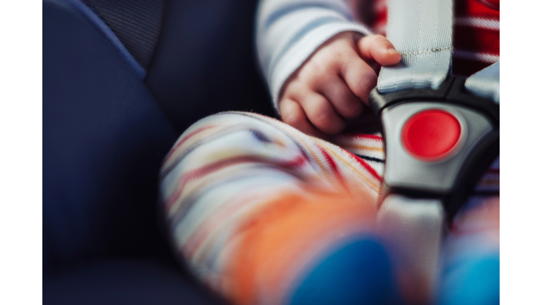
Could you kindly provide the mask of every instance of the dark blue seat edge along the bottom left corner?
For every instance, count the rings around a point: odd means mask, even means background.
[[[88,263],[44,282],[43,304],[225,304],[181,277],[174,266],[144,259]]]

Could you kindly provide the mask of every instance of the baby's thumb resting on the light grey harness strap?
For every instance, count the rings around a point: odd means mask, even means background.
[[[358,41],[358,48],[361,56],[382,66],[390,66],[401,61],[401,54],[395,50],[390,40],[382,35],[362,37]]]

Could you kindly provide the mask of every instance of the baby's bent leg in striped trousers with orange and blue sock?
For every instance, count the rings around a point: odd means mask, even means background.
[[[394,302],[373,229],[380,177],[349,152],[277,120],[207,117],[164,160],[172,244],[239,304]]]

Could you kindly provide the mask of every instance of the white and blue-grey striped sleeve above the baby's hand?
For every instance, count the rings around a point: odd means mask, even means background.
[[[258,8],[258,59],[275,109],[284,82],[320,44],[339,32],[371,32],[354,21],[347,1],[263,0]]]

